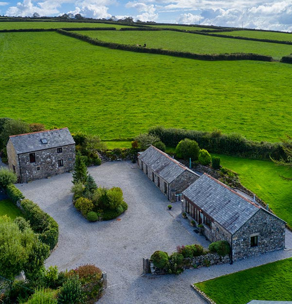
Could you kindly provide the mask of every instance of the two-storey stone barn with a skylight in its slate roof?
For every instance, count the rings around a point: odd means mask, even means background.
[[[9,168],[20,183],[73,170],[75,142],[68,128],[10,136]]]

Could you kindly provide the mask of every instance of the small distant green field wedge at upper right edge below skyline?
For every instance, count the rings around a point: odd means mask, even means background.
[[[233,31],[233,32],[220,32],[216,34],[258,38],[258,39],[292,41],[292,34],[289,33],[275,33],[275,32],[261,32],[261,31]]]

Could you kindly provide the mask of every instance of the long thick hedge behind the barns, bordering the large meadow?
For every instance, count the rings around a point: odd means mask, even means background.
[[[286,158],[282,143],[254,142],[238,133],[222,134],[219,130],[203,132],[162,126],[153,127],[148,133],[158,136],[163,143],[170,147],[176,147],[181,140],[188,138],[196,141],[200,148],[211,153],[236,155],[257,160],[271,160],[271,157],[274,160]]]

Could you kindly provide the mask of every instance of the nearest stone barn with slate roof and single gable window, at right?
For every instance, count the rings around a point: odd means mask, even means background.
[[[226,240],[233,261],[285,247],[282,219],[206,173],[183,191],[182,212],[211,242]]]

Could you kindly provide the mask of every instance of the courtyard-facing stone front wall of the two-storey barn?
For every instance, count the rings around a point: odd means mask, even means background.
[[[57,153],[57,148],[40,150],[35,153],[35,162],[30,162],[30,153],[20,154],[20,182],[28,182],[62,174],[73,170],[75,163],[75,145],[62,147],[62,152]],[[58,161],[63,160],[63,166],[58,166]]]

